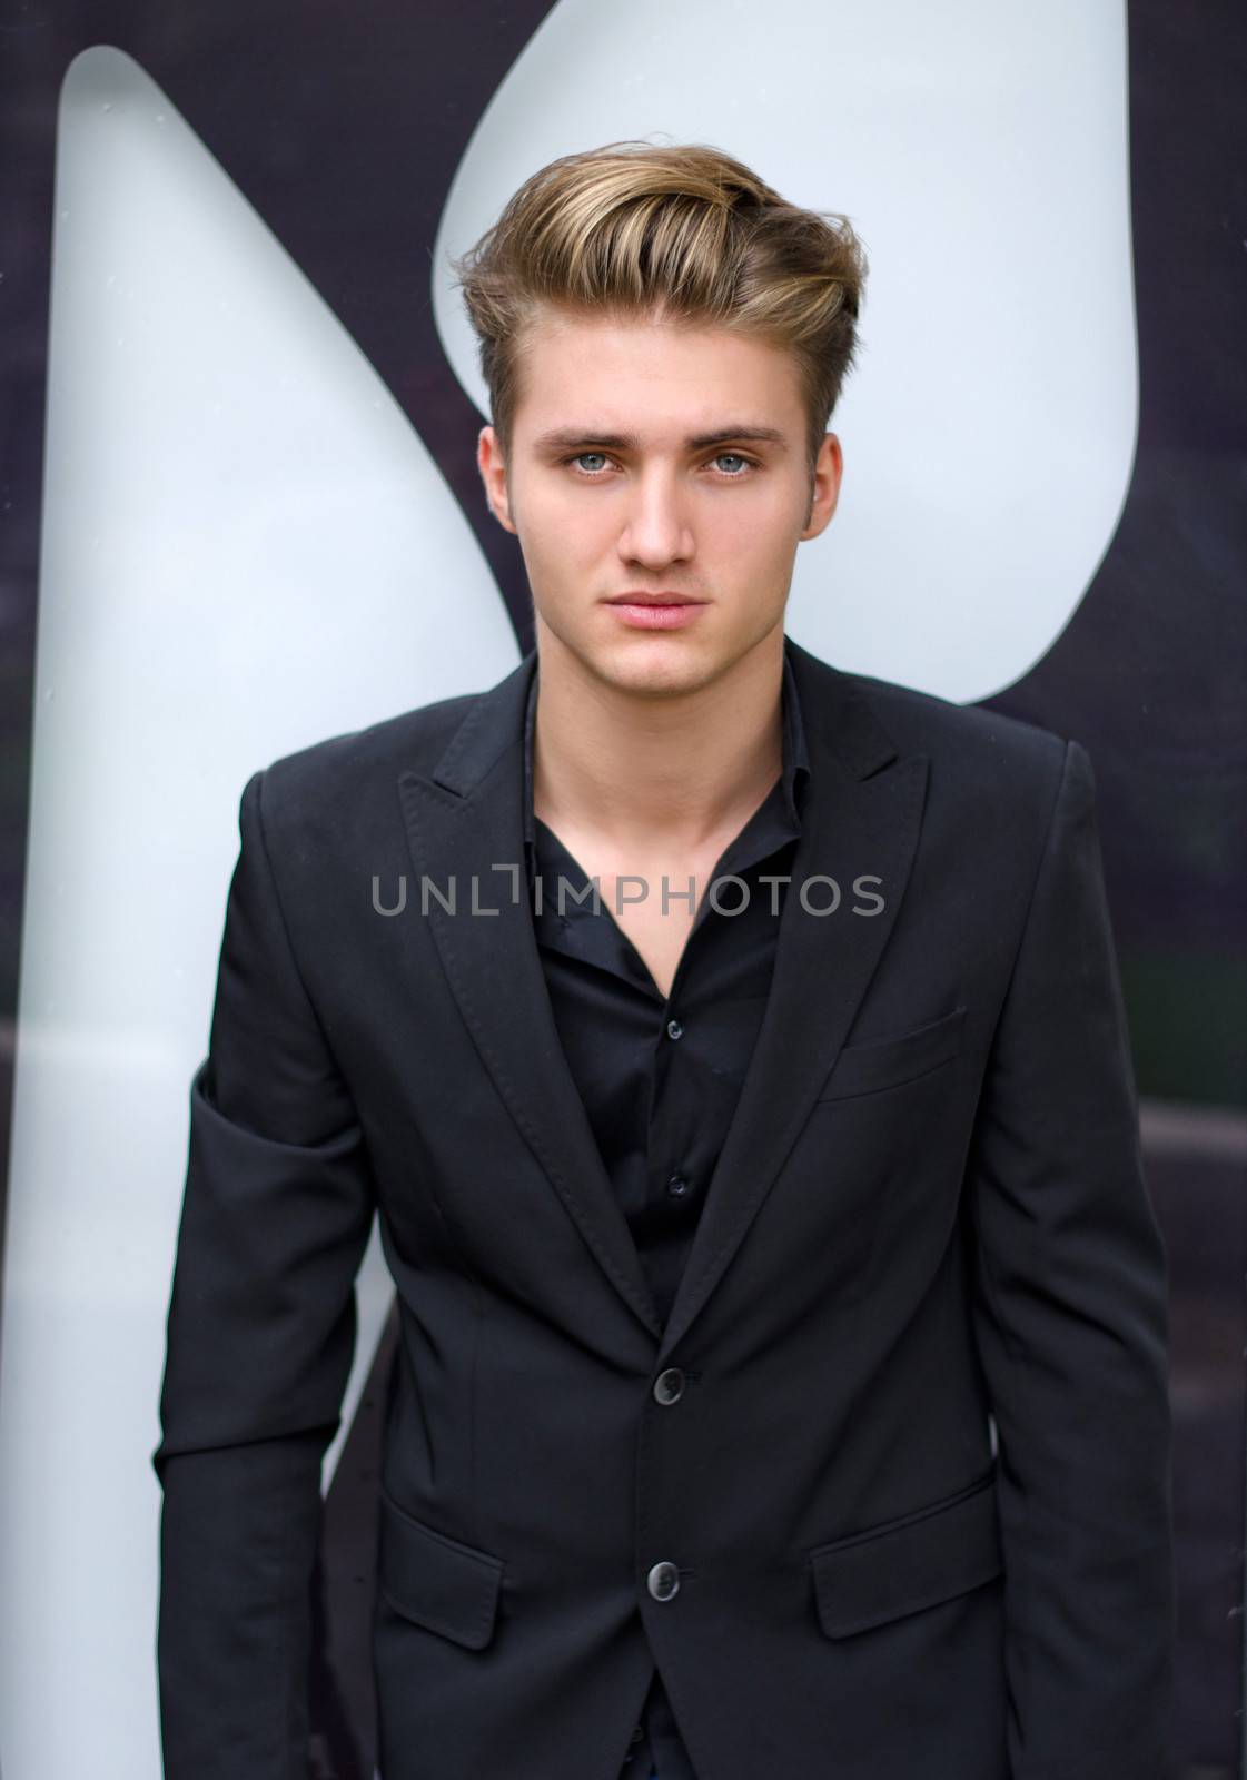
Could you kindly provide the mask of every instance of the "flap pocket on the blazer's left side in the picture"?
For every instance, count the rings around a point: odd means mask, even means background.
[[[379,1492],[377,1588],[406,1620],[482,1650],[495,1630],[503,1561],[416,1520]]]

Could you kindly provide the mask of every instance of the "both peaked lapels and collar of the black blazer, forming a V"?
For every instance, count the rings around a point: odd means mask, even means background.
[[[430,897],[429,922],[480,1059],[660,1360],[722,1278],[813,1107],[895,926],[921,822],[927,756],[898,756],[845,675],[784,646],[811,758],[802,833],[767,1011],[665,1330],[562,1054],[525,895],[523,714],[535,651],[470,705],[432,774],[398,780],[416,895],[420,874],[455,888],[457,911]],[[799,897],[820,874],[841,894],[825,917]],[[877,915],[850,913],[863,874],[881,879]],[[813,908],[829,897],[829,885],[809,885]]]

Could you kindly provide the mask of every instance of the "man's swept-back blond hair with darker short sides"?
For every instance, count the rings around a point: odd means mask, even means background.
[[[660,315],[767,340],[797,361],[813,472],[856,360],[866,255],[838,212],[786,203],[701,142],[607,142],[551,160],[450,262],[511,450],[525,324],[539,304]]]

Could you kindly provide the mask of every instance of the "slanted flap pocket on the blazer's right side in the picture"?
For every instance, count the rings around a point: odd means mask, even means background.
[[[957,1495],[809,1552],[818,1620],[849,1638],[991,1582],[1003,1570],[996,1465]]]

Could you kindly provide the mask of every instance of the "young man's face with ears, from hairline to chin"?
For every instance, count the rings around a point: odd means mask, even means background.
[[[477,463],[519,538],[541,660],[567,650],[635,692],[694,691],[783,632],[797,545],[841,473],[834,433],[809,473],[779,347],[550,306],[525,335],[511,456],[484,427]],[[697,603],[612,603],[626,593]]]

